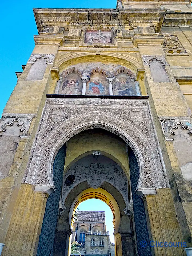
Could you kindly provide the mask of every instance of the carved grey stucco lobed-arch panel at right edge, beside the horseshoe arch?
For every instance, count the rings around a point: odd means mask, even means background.
[[[159,121],[166,140],[174,140],[175,130],[178,127],[187,130],[189,135],[192,135],[192,124],[189,117],[159,117]]]

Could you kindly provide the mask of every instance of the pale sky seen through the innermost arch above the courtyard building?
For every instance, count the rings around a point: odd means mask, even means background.
[[[110,241],[114,243],[113,214],[109,206],[99,199],[88,199],[78,206],[81,211],[105,211],[106,231],[109,230]]]

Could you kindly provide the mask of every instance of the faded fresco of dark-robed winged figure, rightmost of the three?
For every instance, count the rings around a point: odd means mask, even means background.
[[[118,74],[113,84],[113,95],[136,96],[134,79],[126,74]]]

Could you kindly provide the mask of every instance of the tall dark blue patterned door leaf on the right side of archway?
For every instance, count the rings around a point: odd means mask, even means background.
[[[149,244],[149,234],[147,229],[147,221],[145,215],[145,208],[143,200],[135,193],[137,183],[139,181],[139,166],[133,150],[129,147],[129,169],[131,179],[131,191],[133,197],[133,211],[135,220],[135,231],[137,238],[137,250],[139,256],[151,256],[151,249]],[[146,247],[140,245],[141,241],[146,241]]]

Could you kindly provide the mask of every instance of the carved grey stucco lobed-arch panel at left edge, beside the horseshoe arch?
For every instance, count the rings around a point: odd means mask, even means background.
[[[21,138],[27,137],[27,132],[33,117],[35,117],[34,114],[2,114],[0,134],[5,133],[3,135],[6,135],[8,126],[17,125],[19,127],[19,131],[22,133],[22,135],[19,136]],[[12,129],[11,134],[9,132],[9,135],[18,135],[18,132],[15,129]]]

